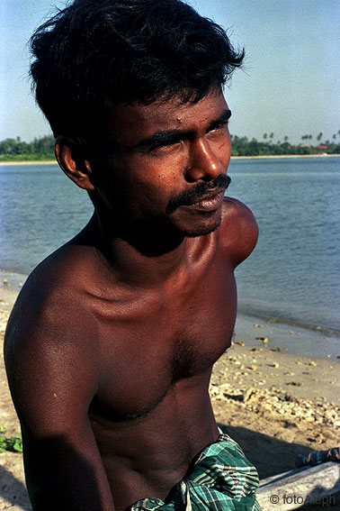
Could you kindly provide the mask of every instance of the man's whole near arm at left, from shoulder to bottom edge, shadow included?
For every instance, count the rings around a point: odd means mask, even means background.
[[[90,268],[78,247],[62,248],[43,261],[22,288],[5,335],[34,509],[113,509],[88,417],[101,370],[82,285]]]

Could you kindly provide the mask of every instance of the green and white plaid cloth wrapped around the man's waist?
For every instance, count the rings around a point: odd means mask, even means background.
[[[175,485],[166,502],[144,498],[131,511],[261,511],[255,499],[258,475],[239,445],[219,434]]]

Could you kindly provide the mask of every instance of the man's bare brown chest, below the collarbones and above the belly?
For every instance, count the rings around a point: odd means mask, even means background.
[[[128,313],[103,315],[102,403],[118,421],[134,418],[176,382],[209,370],[230,345],[236,306],[232,271],[215,268],[186,288],[131,303]]]

